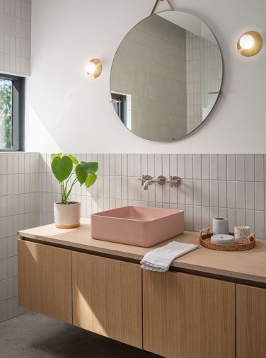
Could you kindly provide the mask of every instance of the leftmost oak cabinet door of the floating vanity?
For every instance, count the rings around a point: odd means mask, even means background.
[[[72,323],[71,251],[19,240],[18,303]]]

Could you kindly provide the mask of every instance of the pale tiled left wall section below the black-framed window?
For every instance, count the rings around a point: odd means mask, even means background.
[[[0,154],[0,322],[23,312],[18,306],[17,231],[38,224],[39,156]]]

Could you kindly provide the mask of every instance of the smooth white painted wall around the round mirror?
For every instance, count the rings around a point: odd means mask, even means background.
[[[28,151],[260,153],[266,150],[266,46],[255,57],[236,50],[246,30],[266,32],[265,0],[173,0],[216,34],[224,55],[224,94],[202,127],[173,143],[129,132],[109,103],[112,58],[125,34],[149,15],[154,0],[33,0],[32,76],[27,83]],[[166,3],[166,1],[165,1]],[[161,4],[161,9],[167,9]],[[96,80],[83,70],[99,57]]]

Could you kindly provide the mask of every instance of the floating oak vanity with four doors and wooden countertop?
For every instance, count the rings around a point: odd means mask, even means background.
[[[82,223],[19,232],[21,306],[163,357],[265,358],[266,242],[201,247],[158,273],[139,265],[151,248],[94,240]]]

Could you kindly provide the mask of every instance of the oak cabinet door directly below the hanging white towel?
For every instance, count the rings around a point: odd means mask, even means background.
[[[144,271],[144,350],[169,358],[234,358],[235,286]]]

